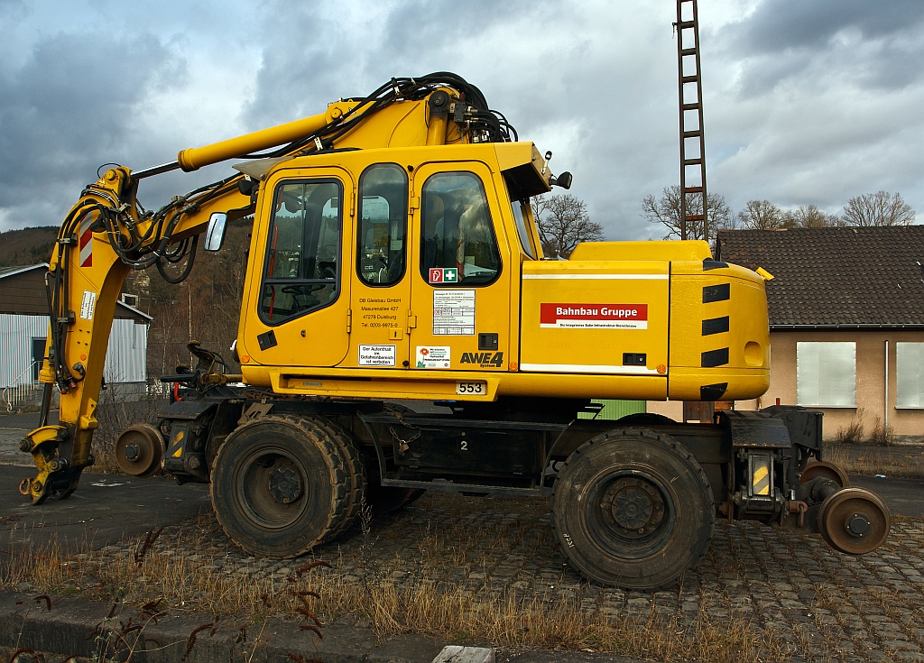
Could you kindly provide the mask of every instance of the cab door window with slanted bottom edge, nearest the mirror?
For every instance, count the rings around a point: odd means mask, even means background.
[[[336,180],[276,187],[260,302],[264,322],[295,318],[337,298],[342,193]]]

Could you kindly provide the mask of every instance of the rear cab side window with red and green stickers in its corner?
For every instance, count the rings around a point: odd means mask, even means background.
[[[474,173],[438,173],[423,185],[420,273],[432,285],[483,285],[501,271],[488,199]]]

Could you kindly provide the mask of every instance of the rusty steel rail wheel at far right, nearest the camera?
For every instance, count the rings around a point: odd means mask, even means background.
[[[844,488],[821,502],[818,528],[835,550],[863,555],[879,548],[889,536],[892,514],[876,493],[865,488]]]

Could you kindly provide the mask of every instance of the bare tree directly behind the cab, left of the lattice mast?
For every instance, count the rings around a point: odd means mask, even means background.
[[[569,193],[537,196],[532,214],[539,225],[542,252],[549,258],[567,258],[581,242],[603,238],[603,226],[590,221],[587,203]]]

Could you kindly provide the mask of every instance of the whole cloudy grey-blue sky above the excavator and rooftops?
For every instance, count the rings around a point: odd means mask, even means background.
[[[640,201],[679,176],[674,20],[671,0],[0,0],[0,231],[60,223],[103,163],[444,70],[553,151],[609,238],[657,237]],[[920,0],[699,0],[710,190],[836,212],[885,189],[924,222],[922,22]]]

